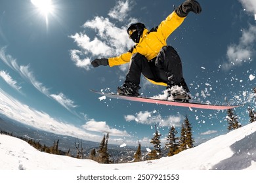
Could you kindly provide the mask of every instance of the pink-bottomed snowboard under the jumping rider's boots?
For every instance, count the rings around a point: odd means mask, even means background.
[[[161,105],[171,105],[171,106],[177,106],[177,107],[203,108],[203,109],[211,109],[211,110],[226,110],[226,109],[242,106],[242,105],[211,105],[211,104],[206,104],[206,103],[167,101],[167,100],[153,99],[153,98],[148,98],[148,97],[132,97],[132,96],[125,96],[125,95],[117,95],[114,93],[97,92],[95,90],[91,90],[91,92],[95,92],[102,96],[106,96],[106,97],[109,97],[112,99],[123,99],[123,100],[127,100],[127,101],[136,101],[136,102],[142,102],[142,103],[154,103],[154,104],[161,104]]]

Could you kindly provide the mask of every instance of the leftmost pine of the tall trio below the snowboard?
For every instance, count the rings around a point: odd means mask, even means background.
[[[156,127],[156,125],[155,125]],[[161,134],[156,129],[156,133],[154,133],[154,137],[151,139],[150,143],[154,144],[154,150],[148,154],[150,159],[159,159],[161,158],[161,141],[160,141]]]

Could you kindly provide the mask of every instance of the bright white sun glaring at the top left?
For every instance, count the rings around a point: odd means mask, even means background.
[[[54,10],[53,2],[51,0],[31,0],[31,3],[45,16],[46,24],[48,24],[48,15],[53,14]]]

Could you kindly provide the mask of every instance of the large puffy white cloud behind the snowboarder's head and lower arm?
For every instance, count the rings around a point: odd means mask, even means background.
[[[96,16],[83,24],[85,31],[70,35],[79,47],[79,50],[70,50],[71,59],[77,67],[89,70],[93,59],[119,56],[133,46],[134,43],[129,39],[126,31],[129,22],[137,21],[135,18],[127,18],[130,4],[129,0],[117,1],[116,7],[108,13],[109,18]],[[112,22],[110,18],[115,20]],[[116,20],[123,25],[117,27]],[[89,35],[87,29],[95,31],[95,35]],[[120,68],[124,70],[123,67]]]

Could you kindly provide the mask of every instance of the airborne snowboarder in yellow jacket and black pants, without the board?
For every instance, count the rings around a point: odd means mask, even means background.
[[[93,67],[99,65],[112,67],[130,62],[125,82],[123,86],[117,88],[119,95],[139,96],[142,73],[150,82],[166,86],[169,97],[188,101],[190,91],[182,75],[181,59],[172,46],[167,46],[166,41],[190,11],[199,14],[202,8],[197,1],[186,0],[158,27],[150,31],[140,22],[129,25],[127,33],[135,42],[135,46],[120,56],[95,59],[91,64]]]

